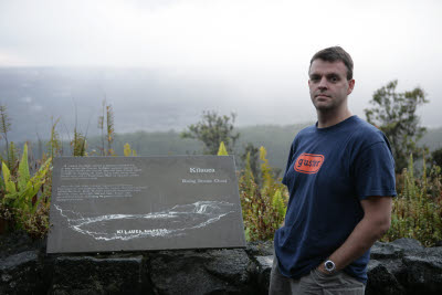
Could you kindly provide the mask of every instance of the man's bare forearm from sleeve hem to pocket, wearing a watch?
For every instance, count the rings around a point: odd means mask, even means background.
[[[344,244],[329,256],[336,265],[336,271],[343,270],[360,257],[390,228],[391,197],[369,197],[361,200],[360,204],[364,209],[364,218]],[[320,263],[318,270],[327,273],[324,263]]]

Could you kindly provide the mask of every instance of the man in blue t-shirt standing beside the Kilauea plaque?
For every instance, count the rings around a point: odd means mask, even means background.
[[[364,294],[369,250],[390,226],[394,161],[385,135],[348,109],[350,55],[322,50],[308,75],[317,123],[291,147],[270,294]]]

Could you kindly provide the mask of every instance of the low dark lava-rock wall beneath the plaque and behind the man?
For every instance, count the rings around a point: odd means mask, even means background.
[[[45,243],[0,236],[0,294],[267,294],[272,242],[246,249],[46,255]],[[442,247],[376,243],[366,294],[442,294]]]

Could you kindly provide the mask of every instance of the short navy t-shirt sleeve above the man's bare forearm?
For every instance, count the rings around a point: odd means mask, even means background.
[[[352,172],[359,199],[397,194],[394,159],[387,143],[379,141],[364,149],[355,159]]]

